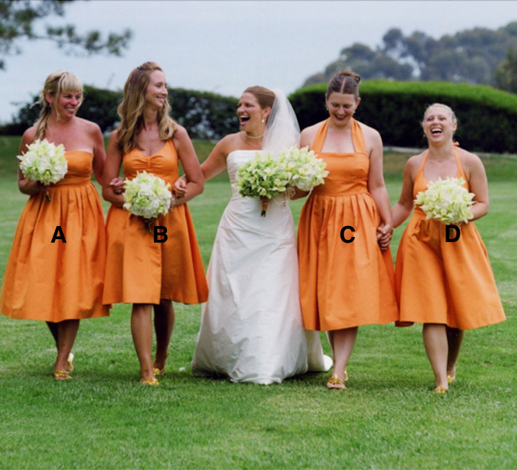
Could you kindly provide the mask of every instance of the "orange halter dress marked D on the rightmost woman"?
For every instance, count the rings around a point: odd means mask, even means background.
[[[456,177],[467,182],[454,150]],[[414,180],[413,195],[426,191],[423,168]],[[464,184],[468,189],[468,183]],[[446,225],[426,220],[420,207],[414,209],[396,257],[396,293],[401,309],[401,326],[439,323],[459,329],[473,329],[505,320],[487,249],[473,222],[461,227],[458,241],[446,242]]]

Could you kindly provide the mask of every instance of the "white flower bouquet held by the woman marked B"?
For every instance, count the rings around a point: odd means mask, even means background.
[[[144,218],[148,232],[151,231],[151,220],[166,215],[173,206],[170,184],[147,171],[137,172],[132,180],[125,178],[124,189],[123,208]]]

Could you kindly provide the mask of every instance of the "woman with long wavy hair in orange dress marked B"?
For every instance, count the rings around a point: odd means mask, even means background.
[[[133,304],[131,331],[141,383],[146,385],[158,385],[156,376],[164,373],[175,320],[171,301],[200,304],[208,296],[198,241],[184,204],[202,192],[203,177],[189,135],[170,119],[169,110],[167,82],[159,65],[146,62],[134,69],[125,83],[119,106],[121,125],[109,139],[105,170],[106,182],[114,182],[123,165],[125,177],[131,179],[137,171],[145,170],[170,183],[172,189],[181,161],[189,177],[189,194],[153,222],[154,226],[166,227],[166,241],[155,242],[143,219],[122,209],[123,195],[112,184],[103,186],[104,198],[112,203],[106,223],[103,303]],[[152,306],[157,338],[154,363]]]

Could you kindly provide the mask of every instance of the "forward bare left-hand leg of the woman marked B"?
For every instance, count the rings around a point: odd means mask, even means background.
[[[144,379],[153,378],[152,350],[152,309],[151,304],[133,304],[131,311],[131,333],[134,349],[140,361],[140,375]]]

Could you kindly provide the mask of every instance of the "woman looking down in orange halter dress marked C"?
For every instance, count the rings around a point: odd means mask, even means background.
[[[328,332],[334,370],[327,387],[340,389],[358,327],[398,320],[383,143],[352,117],[359,80],[337,73],[326,92],[329,119],[301,133],[301,146],[310,146],[329,172],[299,220],[301,311],[306,329]]]

